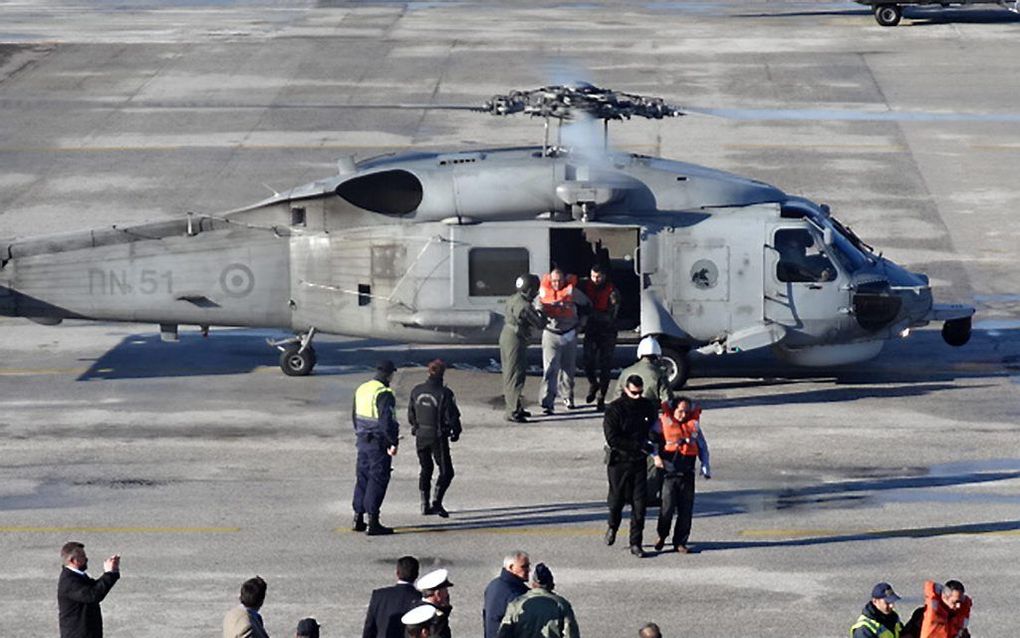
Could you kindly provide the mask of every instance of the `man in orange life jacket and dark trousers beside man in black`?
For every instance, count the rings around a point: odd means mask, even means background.
[[[669,527],[676,512],[673,550],[687,553],[691,518],[695,510],[695,459],[701,460],[702,476],[712,478],[708,442],[701,429],[701,407],[685,396],[662,404],[659,421],[653,426],[652,443],[655,467],[663,471],[662,507],[659,509],[659,540],[655,549],[666,544]]]

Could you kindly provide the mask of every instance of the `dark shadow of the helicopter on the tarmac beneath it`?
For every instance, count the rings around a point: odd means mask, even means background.
[[[284,379],[276,369],[278,352],[265,344],[267,337],[280,336],[283,333],[272,331],[220,330],[208,338],[198,333],[182,333],[177,343],[162,343],[155,333],[132,335],[93,360],[79,381],[236,375],[263,367]],[[381,358],[391,358],[401,367],[416,367],[436,357],[443,357],[457,370],[497,375],[500,358],[495,346],[409,347],[375,339],[330,340],[328,337],[315,341],[315,351],[318,358],[312,373],[315,376],[372,370]],[[529,367],[541,370],[540,349],[532,347],[528,354]],[[618,347],[616,367],[629,364],[633,358],[634,346]],[[767,349],[726,356],[694,356],[692,367],[692,392],[810,380],[858,386],[899,384],[900,388],[876,389],[874,396],[916,396],[950,389],[951,384],[960,379],[1016,375],[1020,371],[1020,329],[975,330],[970,343],[963,348],[947,346],[937,331],[920,331],[908,339],[887,343],[876,359],[839,367],[795,366],[779,360]],[[584,383],[582,377],[582,371],[578,370],[579,384]],[[714,381],[703,384],[699,378]],[[911,384],[915,385],[910,387]],[[861,396],[861,391],[833,388],[804,394],[803,401],[842,400]],[[789,397],[780,395],[763,400],[797,400],[783,396]]]

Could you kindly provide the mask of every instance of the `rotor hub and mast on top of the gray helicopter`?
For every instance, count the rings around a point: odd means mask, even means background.
[[[549,150],[549,119],[571,120],[577,113],[584,113],[593,119],[602,120],[603,145],[609,147],[609,120],[645,117],[662,119],[685,115],[683,109],[668,104],[664,99],[623,93],[603,89],[586,82],[571,85],[553,85],[529,91],[511,91],[505,95],[495,95],[479,109],[493,115],[513,115],[524,113],[542,117],[545,128],[543,151]],[[557,132],[557,139],[560,139]]]

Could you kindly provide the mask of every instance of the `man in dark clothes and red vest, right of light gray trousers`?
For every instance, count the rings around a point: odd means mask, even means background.
[[[592,302],[592,311],[584,325],[584,374],[588,376],[585,403],[597,401],[596,409],[606,409],[606,392],[616,350],[616,315],[620,310],[620,293],[609,281],[608,268],[601,263],[592,266],[588,279],[578,287]]]

